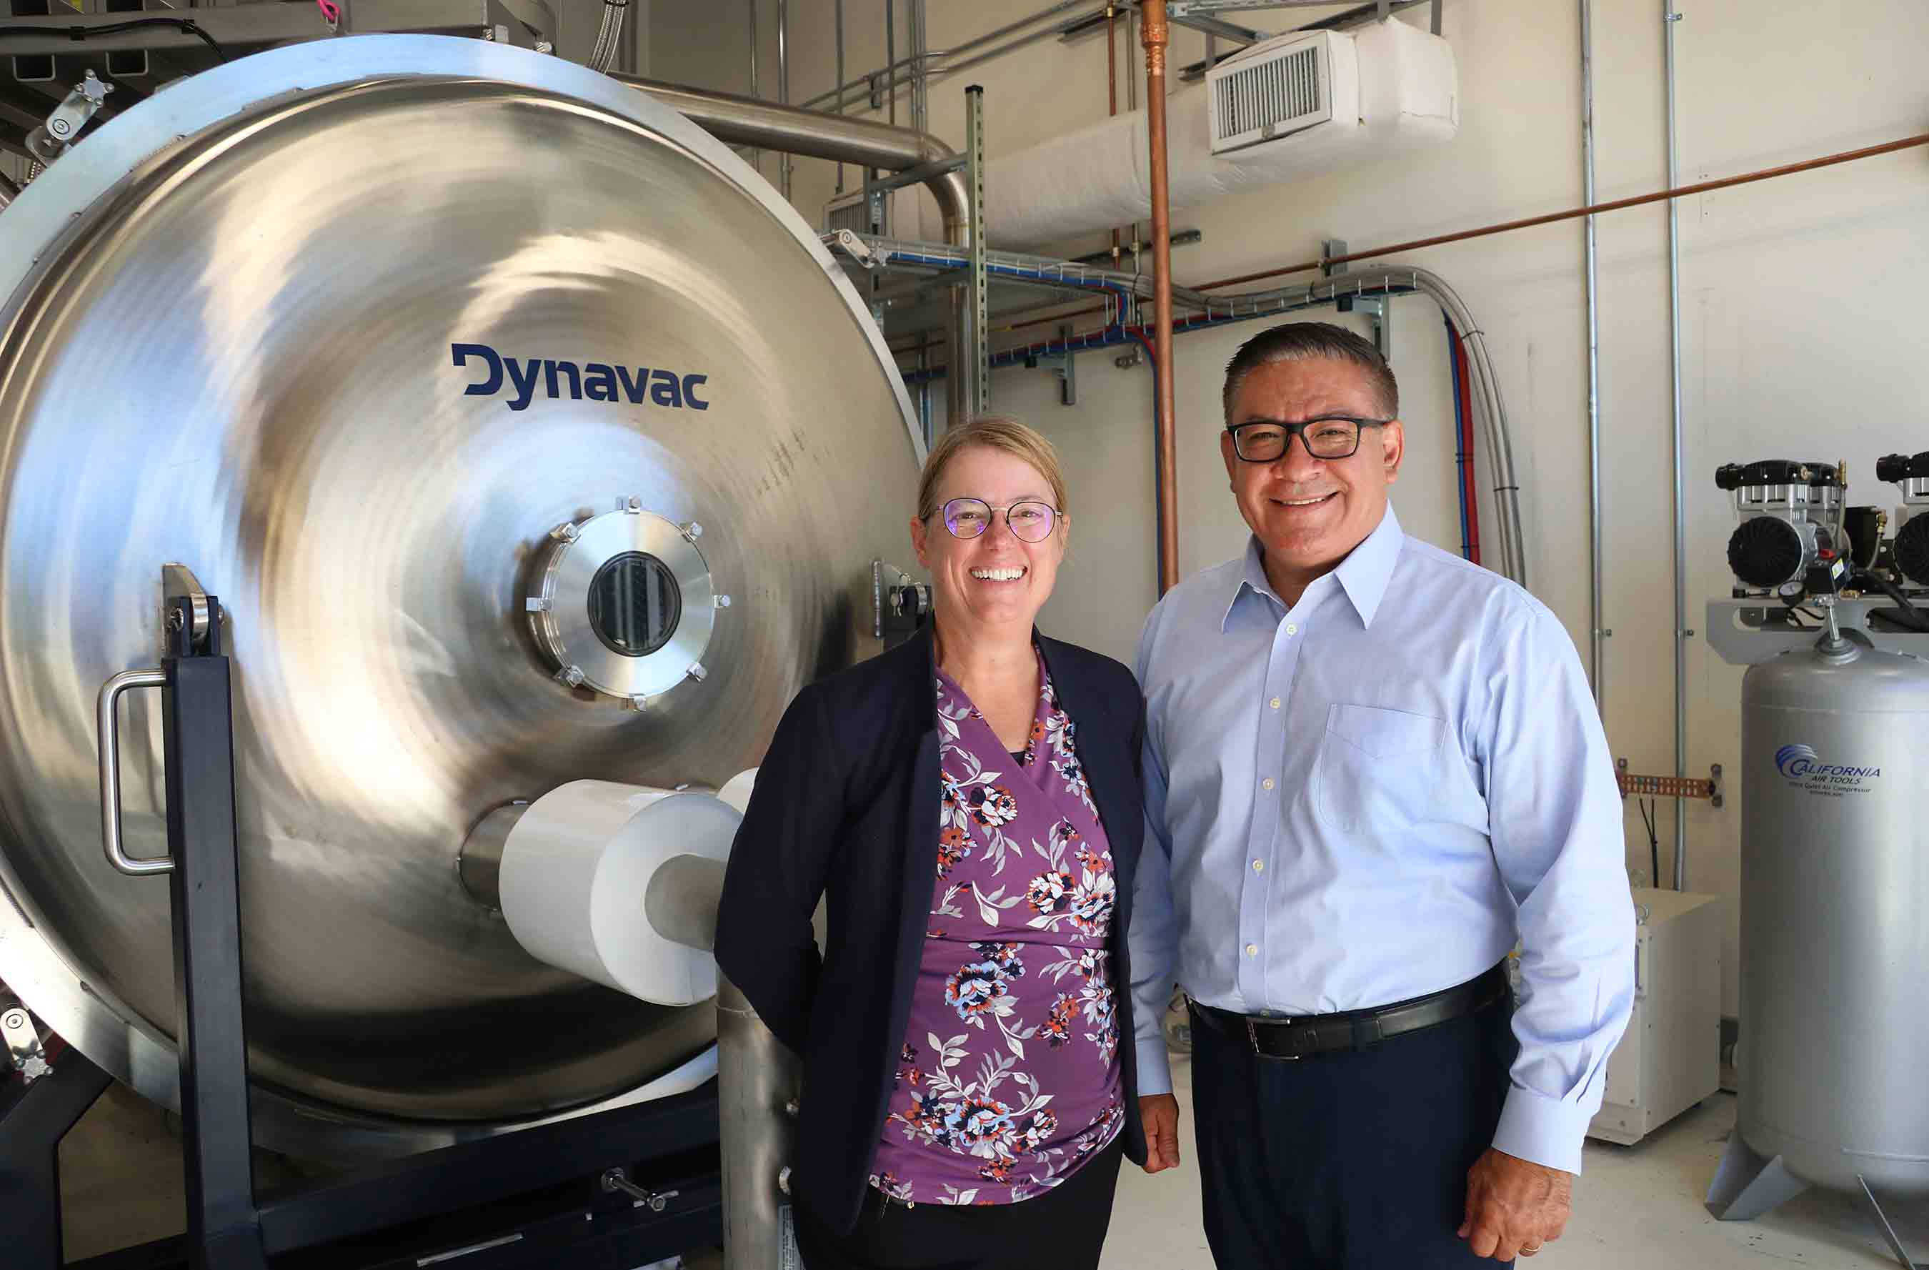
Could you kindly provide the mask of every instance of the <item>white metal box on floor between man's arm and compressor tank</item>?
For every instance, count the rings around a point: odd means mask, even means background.
[[[1721,1089],[1721,896],[1636,890],[1634,1015],[1588,1137],[1628,1146]]]

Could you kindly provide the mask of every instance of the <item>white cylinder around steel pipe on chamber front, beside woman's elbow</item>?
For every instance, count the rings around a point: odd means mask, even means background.
[[[579,780],[502,849],[502,915],[538,961],[658,1006],[716,996],[704,932],[743,814],[708,793]]]

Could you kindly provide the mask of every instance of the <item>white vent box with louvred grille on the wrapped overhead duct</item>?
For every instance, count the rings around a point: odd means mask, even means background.
[[[1211,152],[1229,154],[1310,127],[1360,118],[1360,62],[1331,31],[1289,35],[1206,73]]]

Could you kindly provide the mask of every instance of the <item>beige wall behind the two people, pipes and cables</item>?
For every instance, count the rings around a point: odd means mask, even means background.
[[[748,8],[748,0],[737,6]],[[847,0],[847,64],[882,64],[882,6]],[[1001,25],[1040,0],[934,0],[932,46]],[[1929,6],[1917,0],[1678,0],[1682,179],[1734,174],[1921,131],[1929,108],[1919,64]],[[741,89],[743,14],[662,0],[654,14],[658,75]],[[1304,10],[1302,10],[1304,12]],[[1412,10],[1410,21],[1424,21]],[[1179,282],[1306,259],[1327,235],[1356,249],[1580,203],[1578,6],[1559,0],[1449,0],[1447,37],[1460,68],[1456,141],[1292,187],[1175,214],[1206,241],[1175,253]],[[1267,17],[1256,17],[1262,25]],[[1281,15],[1271,15],[1277,25]],[[774,0],[762,0],[766,95],[775,95]],[[793,0],[793,98],[831,85],[831,0]],[[899,21],[903,48],[905,21]],[[1177,62],[1200,54],[1179,33]],[[1663,185],[1661,0],[1595,2],[1597,183],[1603,199]],[[1132,50],[1130,66],[1138,66]],[[963,141],[964,83],[986,87],[995,156],[1080,127],[1105,112],[1103,41],[1047,41],[932,85],[932,127]],[[1123,98],[1123,93],[1121,93]],[[899,120],[909,118],[901,104]],[[775,172],[766,160],[766,172]],[[795,203],[816,220],[828,164],[799,160]],[[1726,593],[1723,544],[1732,527],[1709,475],[1752,457],[1846,457],[1856,502],[1894,504],[1873,477],[1879,454],[1929,448],[1921,409],[1921,303],[1929,286],[1929,154],[1863,160],[1829,172],[1684,199],[1682,318],[1686,369],[1688,625]],[[995,241],[993,241],[995,245]],[[1088,243],[1076,247],[1088,249]],[[1638,772],[1672,770],[1671,490],[1667,214],[1603,216],[1601,417],[1605,430],[1605,689],[1613,751]],[[1588,643],[1586,301],[1578,222],[1439,247],[1412,257],[1468,299],[1493,351],[1514,423],[1532,589]],[[1181,560],[1186,571],[1242,544],[1213,428],[1219,369],[1254,328],[1177,344],[1181,413]],[[1410,531],[1458,546],[1453,504],[1451,398],[1439,315],[1422,299],[1395,305],[1393,365],[1412,436],[1395,506]],[[1111,355],[1078,363],[1080,403],[1057,405],[1044,371],[1001,371],[993,403],[1040,425],[1073,471],[1074,564],[1046,621],[1069,639],[1128,656],[1154,600],[1150,376]],[[1480,438],[1483,444],[1483,436]],[[1491,537],[1491,508],[1481,508]],[[1688,768],[1740,760],[1740,670],[1698,635],[1688,645]],[[1734,896],[1738,816],[1688,805],[1690,888]],[[1645,834],[1628,814],[1628,865],[1647,872]],[[1661,805],[1663,874],[1671,874],[1671,807]],[[1730,905],[1732,907],[1732,905]],[[1736,1002],[1734,915],[1725,967]]]

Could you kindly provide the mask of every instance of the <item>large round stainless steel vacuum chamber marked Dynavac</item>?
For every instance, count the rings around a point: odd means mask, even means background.
[[[168,894],[102,855],[95,704],[179,564],[235,668],[257,1139],[702,1081],[712,1004],[538,963],[457,859],[567,782],[721,786],[874,649],[922,444],[808,226],[581,66],[357,37],[87,137],[6,210],[0,297],[0,979],[176,1102]],[[158,708],[120,718],[156,857]]]

